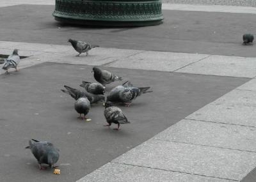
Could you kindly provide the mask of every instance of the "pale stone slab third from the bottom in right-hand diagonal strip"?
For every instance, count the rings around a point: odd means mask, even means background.
[[[256,152],[256,129],[183,119],[154,139]]]

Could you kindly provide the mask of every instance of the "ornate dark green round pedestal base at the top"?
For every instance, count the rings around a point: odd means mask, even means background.
[[[95,26],[151,26],[161,24],[161,0],[56,0],[55,20]]]

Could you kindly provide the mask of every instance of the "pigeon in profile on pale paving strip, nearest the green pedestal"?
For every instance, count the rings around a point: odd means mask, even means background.
[[[90,43],[86,43],[86,42],[83,42],[83,41],[72,40],[71,38],[68,39],[68,42],[70,42],[72,47],[74,47],[74,49],[77,52],[79,52],[79,54],[77,54],[77,56],[82,54],[82,52],[86,52],[86,56],[88,56],[88,51],[89,50],[91,50],[95,47],[99,47],[99,45],[91,45]]]

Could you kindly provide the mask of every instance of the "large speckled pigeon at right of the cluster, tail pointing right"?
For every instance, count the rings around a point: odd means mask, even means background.
[[[130,106],[132,100],[136,99],[141,94],[152,92],[148,91],[148,89],[150,89],[150,87],[133,87],[131,82],[127,81],[122,84],[122,86],[114,87],[106,97],[106,101],[125,103],[126,106]]]

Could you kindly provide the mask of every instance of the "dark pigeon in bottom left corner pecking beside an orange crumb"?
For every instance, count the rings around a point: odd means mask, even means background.
[[[35,156],[39,169],[44,169],[41,166],[42,163],[48,164],[49,167],[54,167],[54,163],[59,160],[59,149],[55,148],[52,143],[43,141],[40,142],[35,139],[29,140],[29,146],[26,147],[31,150],[31,153]]]

